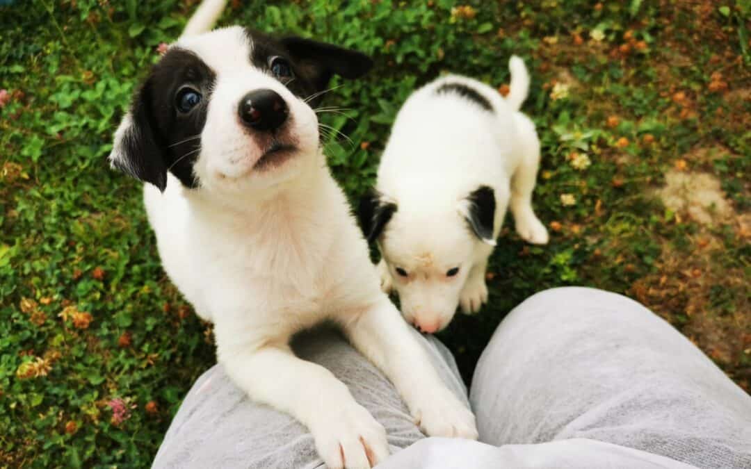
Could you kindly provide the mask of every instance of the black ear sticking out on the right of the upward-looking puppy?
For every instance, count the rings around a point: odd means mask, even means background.
[[[372,68],[372,60],[356,50],[344,49],[310,39],[291,36],[282,39],[295,64],[314,84],[316,91],[326,89],[333,75],[348,80],[360,78]]]

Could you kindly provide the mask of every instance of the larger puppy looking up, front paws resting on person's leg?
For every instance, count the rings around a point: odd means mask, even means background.
[[[476,438],[379,285],[367,245],[321,152],[318,102],[366,56],[241,27],[210,29],[207,0],[136,92],[110,161],[145,182],[164,269],[213,321],[217,356],[256,401],[307,425],[328,467],[388,455],[384,428],[342,382],[292,353],[291,335],[338,324],[394,383],[430,435]]]

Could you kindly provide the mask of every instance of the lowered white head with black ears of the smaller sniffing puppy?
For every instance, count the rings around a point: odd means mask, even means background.
[[[377,240],[402,314],[423,332],[448,326],[478,250],[487,257],[496,200],[481,186],[459,200],[401,203],[371,194],[359,217],[369,241]]]

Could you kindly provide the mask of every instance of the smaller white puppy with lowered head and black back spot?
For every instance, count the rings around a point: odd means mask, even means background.
[[[507,206],[516,230],[544,244],[532,211],[540,143],[519,112],[529,89],[514,56],[505,99],[490,86],[450,75],[414,92],[397,115],[374,194],[360,220],[382,254],[382,287],[423,332],[443,329],[457,304],[471,314],[487,301],[485,269]]]

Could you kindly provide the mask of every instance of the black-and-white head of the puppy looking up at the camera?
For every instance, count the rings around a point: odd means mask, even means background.
[[[181,38],[136,92],[110,162],[161,191],[167,172],[228,200],[267,191],[318,155],[312,106],[333,74],[357,78],[371,65],[351,50],[239,26]]]

